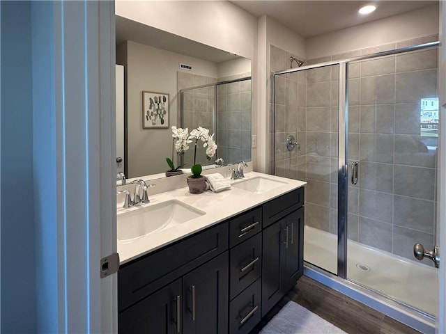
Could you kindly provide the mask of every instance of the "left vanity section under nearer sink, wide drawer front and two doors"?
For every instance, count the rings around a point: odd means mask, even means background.
[[[119,333],[228,333],[228,223],[118,271]]]

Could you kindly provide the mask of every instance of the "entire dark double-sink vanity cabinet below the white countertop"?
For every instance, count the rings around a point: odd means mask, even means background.
[[[303,273],[304,189],[118,271],[118,332],[247,334]]]

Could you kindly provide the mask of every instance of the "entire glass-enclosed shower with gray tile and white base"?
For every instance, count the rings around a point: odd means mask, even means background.
[[[433,321],[436,285],[413,287],[436,269],[413,245],[436,240],[438,42],[413,45],[305,67],[282,58],[300,68],[272,74],[272,173],[307,182],[308,276]],[[420,56],[429,65],[409,65]]]

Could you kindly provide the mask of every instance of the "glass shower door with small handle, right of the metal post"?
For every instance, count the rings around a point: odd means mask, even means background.
[[[348,72],[348,279],[435,315],[436,269],[413,245],[436,237],[437,49]]]

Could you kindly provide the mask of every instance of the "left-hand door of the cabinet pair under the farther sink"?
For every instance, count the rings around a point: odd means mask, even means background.
[[[263,230],[262,317],[284,296],[284,219]]]

